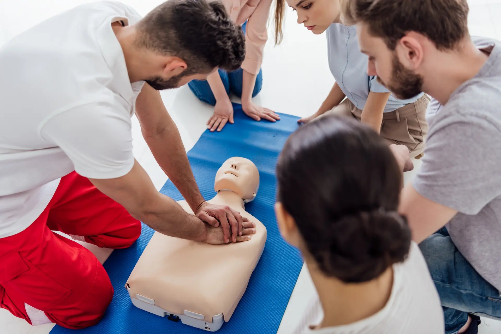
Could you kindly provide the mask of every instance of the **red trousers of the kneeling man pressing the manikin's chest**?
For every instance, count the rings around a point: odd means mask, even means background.
[[[72,172],[32,225],[0,238],[2,308],[30,323],[25,303],[63,327],[94,325],[113,297],[108,274],[94,254],[53,230],[84,236],[100,247],[125,248],[139,237],[141,223]]]

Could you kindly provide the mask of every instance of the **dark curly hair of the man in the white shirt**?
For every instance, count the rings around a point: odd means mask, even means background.
[[[169,0],[138,23],[138,46],[181,58],[184,75],[237,70],[245,57],[242,29],[220,1]]]

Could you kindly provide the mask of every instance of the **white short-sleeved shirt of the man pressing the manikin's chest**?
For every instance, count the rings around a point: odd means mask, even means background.
[[[135,24],[123,4],[79,6],[0,49],[0,238],[37,219],[59,179],[108,179],[134,164],[130,83],[111,24]]]

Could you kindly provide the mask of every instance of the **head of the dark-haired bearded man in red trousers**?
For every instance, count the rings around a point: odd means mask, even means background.
[[[241,27],[217,1],[169,0],[130,28],[141,56],[132,72],[156,90],[205,80],[217,68],[234,71],[245,56]]]

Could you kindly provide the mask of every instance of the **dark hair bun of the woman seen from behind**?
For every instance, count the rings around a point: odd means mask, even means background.
[[[405,260],[411,241],[407,219],[396,211],[363,211],[332,221],[310,252],[328,275],[344,282],[378,277]]]

